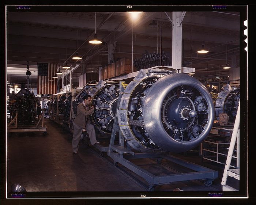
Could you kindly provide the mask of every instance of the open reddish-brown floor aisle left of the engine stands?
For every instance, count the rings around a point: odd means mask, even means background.
[[[50,120],[43,133],[11,133],[7,138],[10,185],[27,191],[145,191],[113,164],[80,143],[72,153],[72,135]]]

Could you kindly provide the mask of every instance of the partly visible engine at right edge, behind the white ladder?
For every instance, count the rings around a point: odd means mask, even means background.
[[[231,87],[226,84],[218,95],[215,105],[215,113],[219,119],[220,113],[227,113],[229,122],[234,122],[237,115],[238,104],[240,101],[240,88]]]

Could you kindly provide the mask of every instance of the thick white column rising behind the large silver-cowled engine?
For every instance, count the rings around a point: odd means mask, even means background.
[[[181,49],[182,49],[182,12],[173,12],[173,49],[172,49],[172,67],[180,69],[181,72]]]

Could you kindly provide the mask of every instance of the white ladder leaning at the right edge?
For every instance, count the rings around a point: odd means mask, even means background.
[[[238,153],[237,157],[239,157],[239,138],[240,138],[239,124],[240,124],[240,102],[238,104],[236,120],[234,123],[234,129],[233,129],[233,133],[232,133],[231,141],[230,141],[230,145],[229,145],[229,152],[227,154],[227,160],[226,160],[225,169],[223,172],[223,177],[222,177],[222,182],[221,182],[222,191],[238,191],[237,189],[234,189],[233,187],[228,186],[226,184],[226,182],[227,182],[228,176],[231,176],[237,180],[240,180],[239,159],[237,159],[237,167],[238,168],[230,169],[230,164],[231,164],[232,155],[234,152],[234,147],[235,147],[236,142],[237,142],[237,153]]]

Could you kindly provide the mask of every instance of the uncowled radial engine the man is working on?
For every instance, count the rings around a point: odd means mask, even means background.
[[[116,115],[119,95],[119,81],[99,81],[89,93],[93,100],[94,113],[91,119],[95,126],[104,134],[111,134]]]

